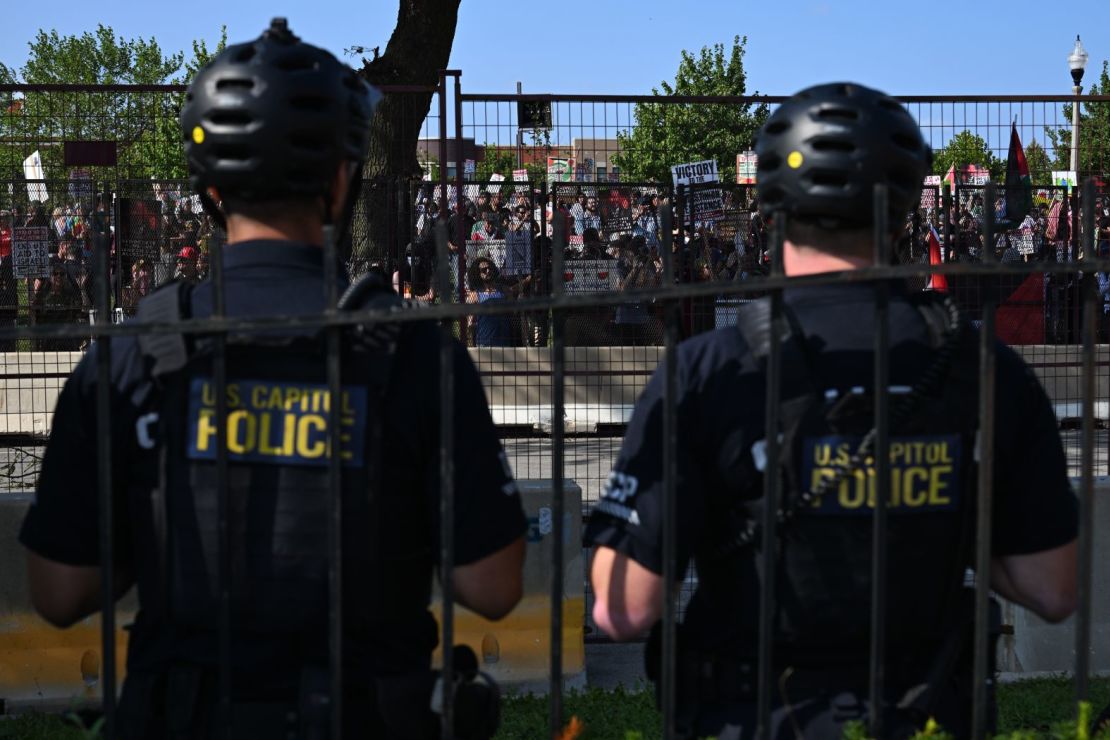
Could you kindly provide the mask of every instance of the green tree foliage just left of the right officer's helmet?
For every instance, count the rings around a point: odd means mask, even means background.
[[[744,53],[747,37],[735,37],[726,54],[725,44],[703,47],[695,57],[682,52],[675,83],[662,83],[666,95],[744,95],[747,74]],[[766,103],[668,104],[637,103],[630,131],[617,134],[620,152],[613,158],[628,181],[670,181],[670,168],[684,162],[716,160],[723,182],[736,178],[736,155],[750,149],[756,132],[767,119]]]

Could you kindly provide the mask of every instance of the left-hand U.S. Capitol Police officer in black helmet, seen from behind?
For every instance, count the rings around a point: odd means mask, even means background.
[[[350,216],[376,98],[283,19],[198,74],[181,122],[192,186],[226,223],[230,316],[325,308],[324,226],[342,229]],[[375,294],[386,303],[391,295]],[[154,318],[167,311],[204,317],[213,301],[211,283],[174,283],[143,302],[140,321],[144,308]],[[173,342],[179,355],[145,339],[111,345],[115,582],[121,595],[137,584],[139,597],[120,702],[125,738],[214,737],[222,727],[216,391],[211,343],[184,336]],[[330,500],[321,347],[311,330],[228,339],[235,738],[327,731],[327,711],[320,710],[329,701]],[[437,639],[428,604],[440,541],[438,347],[438,330],[427,323],[344,339],[344,737],[438,737],[428,709]],[[95,454],[97,354],[94,345],[60,395],[21,533],[32,601],[59,627],[101,608],[92,484],[107,460]],[[183,362],[174,365],[174,357]],[[454,589],[460,604],[500,619],[522,595],[525,520],[461,345],[453,363]]]

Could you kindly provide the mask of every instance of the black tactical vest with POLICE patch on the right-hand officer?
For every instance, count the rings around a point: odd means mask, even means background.
[[[962,323],[946,330],[945,310],[936,298],[915,301],[930,326],[937,354],[947,357],[922,368],[922,375],[931,374],[928,382],[890,397],[887,643],[892,660],[939,645],[950,629],[951,610],[970,565],[976,511],[975,335]],[[739,330],[765,363],[769,303],[751,308]],[[779,327],[783,505],[776,545],[776,641],[784,646],[779,658],[816,665],[866,660],[875,470],[870,456],[856,465],[851,457],[872,428],[872,389],[828,387],[790,310],[784,312],[787,318]],[[727,494],[730,500],[718,496],[714,503],[715,520],[728,523],[731,531],[715,538],[699,555],[703,581],[748,572],[751,566],[744,564],[753,560],[756,579],[747,582],[763,578],[761,558],[754,557],[761,548],[755,524],[761,520],[764,506],[759,458],[757,443],[730,476],[737,485]],[[823,478],[834,476],[842,478],[838,485],[823,496],[808,496]],[[758,591],[751,596],[757,599]],[[757,600],[749,604],[755,609]],[[755,645],[755,638],[747,635],[744,642]]]

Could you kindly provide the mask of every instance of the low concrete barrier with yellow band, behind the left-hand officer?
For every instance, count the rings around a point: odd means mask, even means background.
[[[524,599],[498,622],[456,607],[455,641],[474,648],[483,670],[503,686],[543,691],[551,656],[552,485],[549,480],[522,480],[519,485],[529,521]],[[586,683],[582,489],[567,481],[563,496],[563,670],[566,686],[581,688]],[[61,630],[42,621],[31,608],[26,555],[17,539],[30,501],[29,495],[0,497],[0,555],[8,564],[0,574],[0,713],[30,706],[65,709],[100,701],[100,618]],[[120,677],[128,645],[122,626],[132,621],[134,612],[133,596],[117,609]],[[438,600],[433,612],[438,618]]]

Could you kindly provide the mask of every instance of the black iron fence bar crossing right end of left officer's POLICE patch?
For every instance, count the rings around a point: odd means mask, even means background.
[[[339,313],[339,250],[342,234],[333,225],[324,227],[324,298],[325,312]],[[329,326],[324,333],[327,376],[327,632],[329,669],[331,672],[331,737],[343,738],[343,455],[340,415],[342,408],[342,367],[340,362],[340,326]]]

